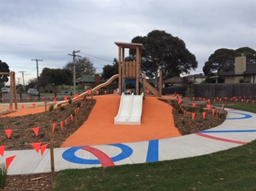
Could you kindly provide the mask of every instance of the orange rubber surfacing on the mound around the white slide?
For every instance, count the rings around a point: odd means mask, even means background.
[[[61,147],[130,143],[181,136],[174,126],[171,105],[156,97],[145,97],[143,100],[141,125],[114,124],[121,99],[119,95],[97,96],[94,99],[96,105],[85,124],[70,135]]]

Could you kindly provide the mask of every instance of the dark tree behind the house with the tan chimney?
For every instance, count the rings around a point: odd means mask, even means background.
[[[212,76],[214,72],[219,75],[231,71],[235,68],[235,58],[242,55],[246,56],[247,64],[256,63],[255,54],[255,50],[248,47],[238,48],[237,50],[220,48],[214,54],[211,54],[208,61],[205,62],[203,73]]]

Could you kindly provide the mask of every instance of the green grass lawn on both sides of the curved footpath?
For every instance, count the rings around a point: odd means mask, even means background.
[[[256,103],[239,105],[230,107],[256,113]],[[59,171],[53,190],[253,191],[256,190],[256,141],[193,158]]]

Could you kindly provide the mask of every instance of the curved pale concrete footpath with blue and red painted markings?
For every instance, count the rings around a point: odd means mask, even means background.
[[[227,120],[208,131],[151,141],[54,149],[55,171],[109,167],[188,158],[228,150],[256,139],[256,114],[227,109]],[[0,162],[15,156],[8,175],[51,172],[50,150],[5,151]]]

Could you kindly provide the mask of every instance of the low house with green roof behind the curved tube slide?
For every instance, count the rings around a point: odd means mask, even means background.
[[[94,88],[100,84],[100,74],[83,75],[76,79],[76,84],[82,86],[83,89]]]

